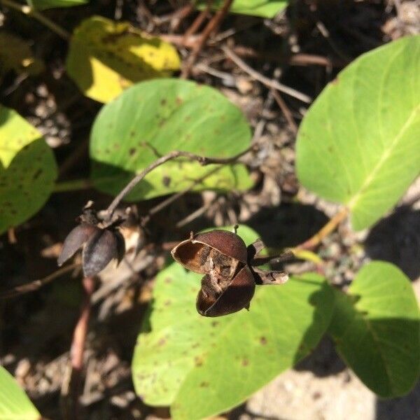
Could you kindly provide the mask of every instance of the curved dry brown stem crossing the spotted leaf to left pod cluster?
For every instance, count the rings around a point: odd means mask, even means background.
[[[137,176],[134,176],[134,178],[127,183],[127,186],[123,188],[123,190],[114,198],[113,202],[109,204],[108,209],[106,209],[106,216],[104,218],[105,221],[110,221],[113,215],[113,212],[118,207],[118,204],[120,204],[121,200],[130,193],[130,191],[137,186],[137,184],[144,179],[144,177],[153,169],[157,168],[160,165],[163,165],[165,162],[168,162],[169,160],[175,159],[175,158],[188,158],[189,160],[195,160],[200,163],[200,165],[210,165],[210,164],[228,164],[235,162],[241,156],[245,155],[249,151],[255,149],[255,145],[249,146],[246,150],[242,151],[241,153],[238,153],[235,156],[232,156],[231,158],[207,158],[205,156],[195,155],[195,153],[190,152],[183,152],[183,151],[172,151],[168,153],[167,155],[162,156],[158,160],[155,160],[155,162],[152,162],[151,165],[146,167],[143,171],[140,172]]]

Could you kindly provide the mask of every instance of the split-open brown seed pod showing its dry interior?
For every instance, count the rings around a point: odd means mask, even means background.
[[[226,230],[200,233],[178,244],[172,256],[183,267],[204,274],[197,295],[200,314],[223,316],[249,308],[255,280],[241,237]]]

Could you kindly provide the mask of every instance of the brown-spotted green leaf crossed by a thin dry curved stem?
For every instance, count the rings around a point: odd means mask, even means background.
[[[243,114],[217,90],[186,80],[150,80],[127,89],[97,116],[90,138],[92,181],[104,193],[116,195],[135,173],[158,158],[156,153],[180,150],[228,158],[244,151],[250,140]],[[167,162],[148,174],[129,200],[183,190],[217,167],[185,159]],[[251,185],[244,165],[230,165],[198,183],[195,190]]]

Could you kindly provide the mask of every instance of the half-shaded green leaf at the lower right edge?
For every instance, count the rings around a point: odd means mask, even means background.
[[[408,393],[420,374],[420,311],[409,279],[388,262],[365,265],[336,292],[329,332],[363,383],[384,398]]]

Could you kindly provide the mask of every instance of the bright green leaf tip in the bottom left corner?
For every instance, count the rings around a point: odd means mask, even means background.
[[[0,366],[0,420],[40,420],[41,414],[31,403],[15,378]]]

